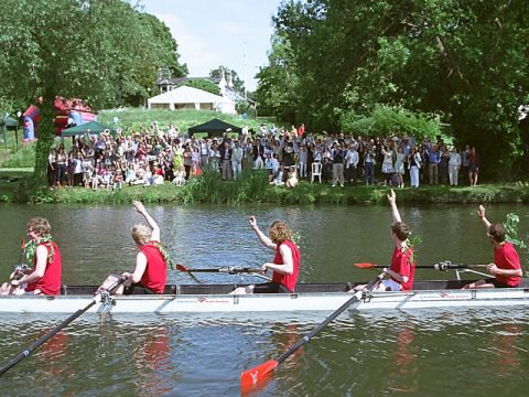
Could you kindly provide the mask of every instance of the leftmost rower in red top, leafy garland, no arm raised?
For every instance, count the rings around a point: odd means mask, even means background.
[[[52,228],[47,219],[34,217],[28,222],[31,242],[25,251],[33,257],[32,270],[15,270],[11,281],[0,287],[0,294],[48,294],[61,293],[61,251],[52,240]],[[18,277],[24,276],[20,279]]]

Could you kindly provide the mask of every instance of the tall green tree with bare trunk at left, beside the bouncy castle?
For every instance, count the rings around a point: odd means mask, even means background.
[[[161,63],[185,73],[166,26],[126,1],[2,0],[0,25],[0,97],[26,104],[43,99],[35,159],[41,181],[53,144],[57,95],[82,98],[97,110],[153,86],[155,74],[144,71]],[[171,52],[163,57],[168,46]],[[145,49],[152,49],[151,57]]]

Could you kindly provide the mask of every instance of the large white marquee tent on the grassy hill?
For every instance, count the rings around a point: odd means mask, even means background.
[[[235,115],[235,101],[203,89],[181,86],[147,100],[149,109],[207,109]]]

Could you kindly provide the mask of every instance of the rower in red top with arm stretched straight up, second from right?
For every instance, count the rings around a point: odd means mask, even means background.
[[[397,195],[391,189],[388,194],[388,201],[391,205],[393,223],[391,224],[391,239],[395,244],[391,266],[384,271],[390,277],[389,280],[382,280],[374,291],[409,291],[413,286],[415,275],[415,261],[413,258],[413,247],[409,245],[409,226],[402,222],[397,208]],[[354,291],[361,290],[365,286],[356,286]]]

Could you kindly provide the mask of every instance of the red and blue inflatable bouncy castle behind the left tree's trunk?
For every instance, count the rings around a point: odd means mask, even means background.
[[[39,98],[42,104],[42,98]],[[79,126],[88,121],[97,121],[97,115],[85,105],[82,99],[65,99],[57,96],[55,98],[55,135],[61,136],[63,129]],[[24,141],[33,140],[36,137],[36,127],[39,125],[39,107],[31,105],[24,111]],[[71,119],[72,122],[68,122]]]

